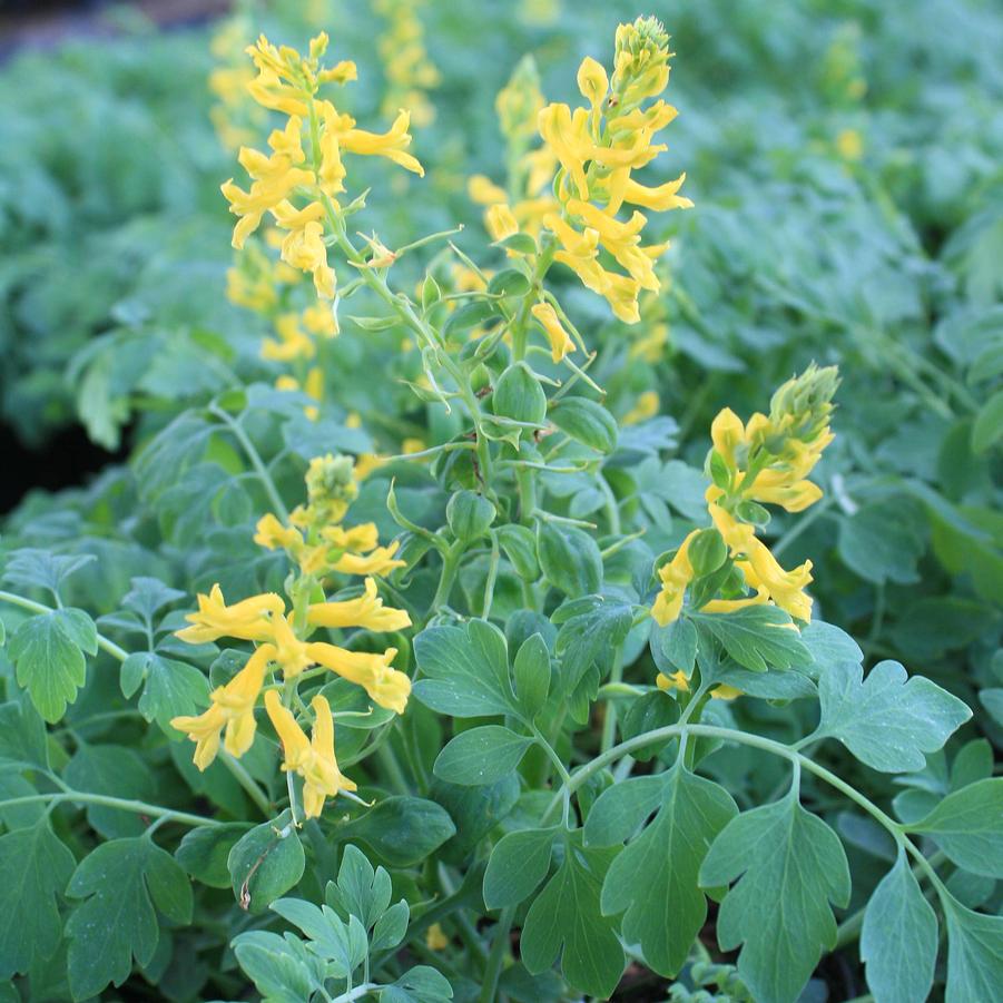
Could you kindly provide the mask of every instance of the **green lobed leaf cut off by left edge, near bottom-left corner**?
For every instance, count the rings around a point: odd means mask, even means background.
[[[0,836],[0,979],[48,961],[62,937],[59,895],[77,862],[41,818]]]

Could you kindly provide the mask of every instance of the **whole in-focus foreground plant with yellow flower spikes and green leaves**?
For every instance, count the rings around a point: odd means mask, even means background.
[[[505,187],[471,185],[495,244],[466,249],[358,243],[381,189],[347,168],[421,176],[407,112],[356,128],[324,33],[252,47],[279,120],[223,186],[229,294],[278,384],[150,406],[131,468],[75,502],[98,560],[4,568],[12,992],[794,1003],[859,940],[878,1003],[992,999],[1003,779],[955,738],[964,687],[884,657],[879,620],[858,645],[820,618],[826,548],[780,563],[847,498],[836,367],[708,419],[702,469],[701,412],[689,436],[599,384],[661,365],[666,245],[625,207],[689,205],[635,177],[675,117],[668,41],[621,24],[574,110],[519,65]],[[579,281],[650,330],[580,330]]]

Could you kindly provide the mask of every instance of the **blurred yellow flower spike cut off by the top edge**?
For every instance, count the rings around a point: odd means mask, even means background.
[[[417,6],[417,0],[375,0],[373,9],[387,24],[376,42],[387,85],[382,111],[393,115],[397,108],[406,108],[416,126],[427,126],[435,118],[427,91],[440,77],[425,49]]]

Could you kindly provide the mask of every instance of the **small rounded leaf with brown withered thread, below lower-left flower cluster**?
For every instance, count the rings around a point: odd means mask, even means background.
[[[306,858],[295,829],[281,834],[291,820],[285,810],[245,833],[226,858],[230,886],[240,908],[263,913],[303,877]]]

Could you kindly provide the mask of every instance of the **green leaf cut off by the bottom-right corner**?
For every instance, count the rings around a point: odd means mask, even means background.
[[[973,913],[941,897],[947,921],[946,1003],[984,1003],[1003,985],[1003,916]]]

